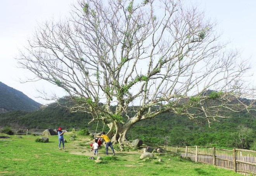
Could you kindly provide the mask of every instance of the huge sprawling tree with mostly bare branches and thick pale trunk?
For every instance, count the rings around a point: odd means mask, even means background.
[[[71,16],[40,25],[18,62],[63,88],[70,110],[109,126],[126,143],[137,122],[171,112],[205,118],[250,110],[239,53],[227,51],[215,24],[181,0],[88,0]]]

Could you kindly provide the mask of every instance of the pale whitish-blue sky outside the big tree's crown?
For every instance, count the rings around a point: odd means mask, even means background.
[[[74,0],[1,0],[0,1],[0,81],[12,88],[22,91],[35,101],[50,102],[39,97],[37,90],[48,95],[64,92],[46,82],[20,83],[26,79],[28,71],[18,69],[16,60],[18,48],[26,45],[26,39],[33,34],[37,23],[54,17],[58,19],[69,12],[70,3]],[[187,0],[205,11],[205,15],[218,23],[216,29],[222,33],[222,41],[230,41],[229,47],[242,52],[241,57],[250,58],[255,65],[256,41],[256,1],[254,0]],[[256,81],[256,77],[249,79]]]

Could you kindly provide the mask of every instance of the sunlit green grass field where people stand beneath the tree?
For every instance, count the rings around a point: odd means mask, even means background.
[[[70,141],[71,135],[76,135]],[[0,133],[0,136],[6,136]],[[88,159],[90,138],[75,132],[65,133],[65,150],[59,150],[58,136],[50,136],[48,143],[36,142],[40,136],[9,136],[0,139],[0,176],[238,176],[240,174],[211,165],[194,163],[171,153],[155,154],[154,159],[140,160],[137,151],[119,152],[107,156],[99,150],[102,163]],[[114,146],[114,148],[116,148]],[[112,151],[109,150],[112,154]],[[158,159],[162,161],[159,162]]]

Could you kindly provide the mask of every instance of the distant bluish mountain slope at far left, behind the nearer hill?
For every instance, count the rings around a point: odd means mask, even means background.
[[[40,103],[32,100],[21,91],[0,82],[0,113],[16,110],[32,112],[38,110]]]

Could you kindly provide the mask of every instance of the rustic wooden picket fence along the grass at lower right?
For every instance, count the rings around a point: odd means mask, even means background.
[[[233,170],[237,173],[256,176],[256,151],[236,149],[226,150],[215,147],[170,147],[167,151],[178,152],[182,157],[195,162],[213,164],[214,166]]]

